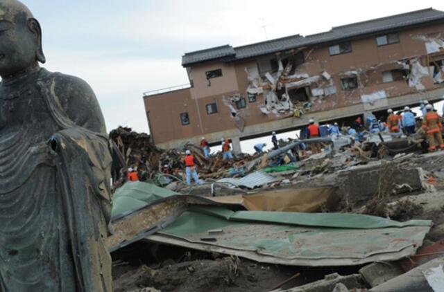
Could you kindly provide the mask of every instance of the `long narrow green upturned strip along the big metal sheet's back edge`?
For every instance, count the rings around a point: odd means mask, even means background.
[[[409,220],[405,222],[369,215],[343,213],[298,213],[271,211],[231,211],[216,206],[197,207],[189,210],[221,217],[230,221],[255,221],[264,223],[281,223],[300,226],[317,226],[332,228],[374,229],[404,226],[431,226],[430,220]]]

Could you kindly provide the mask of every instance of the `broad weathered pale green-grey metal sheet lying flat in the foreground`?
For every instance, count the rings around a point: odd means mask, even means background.
[[[280,212],[255,213],[260,216]],[[282,214],[280,216],[282,217]],[[377,219],[383,226],[384,219]],[[282,218],[281,221],[287,220]],[[348,221],[347,216],[332,221],[330,225],[352,225],[345,221]],[[363,217],[361,223],[364,221],[371,223],[376,220]],[[361,223],[357,225],[360,226]],[[416,221],[419,226],[409,226],[413,223],[415,221],[402,228],[325,228],[247,220],[230,221],[215,215],[187,211],[167,228],[146,239],[197,250],[238,255],[271,264],[347,266],[396,260],[413,255],[416,248],[422,244],[431,222]],[[393,223],[387,222],[387,226],[391,225]],[[223,232],[209,235],[208,230],[213,229],[222,229]],[[214,241],[201,240],[209,236],[214,237]]]

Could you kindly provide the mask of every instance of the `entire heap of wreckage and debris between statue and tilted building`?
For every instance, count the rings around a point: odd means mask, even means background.
[[[146,140],[139,144],[145,153],[135,147],[137,135],[119,133],[112,139],[124,159],[145,165],[151,179],[114,192],[115,291],[444,287],[444,152],[422,154],[420,136],[293,140],[239,156],[234,171],[191,145],[164,151]],[[273,165],[300,143],[325,149]],[[205,183],[153,179],[167,156],[180,176],[185,148],[207,167]]]

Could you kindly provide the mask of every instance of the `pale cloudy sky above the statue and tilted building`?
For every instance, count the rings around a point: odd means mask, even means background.
[[[411,10],[444,10],[443,0],[23,2],[42,24],[46,69],[89,82],[108,130],[124,125],[145,132],[142,93],[187,83],[184,53],[320,33]]]

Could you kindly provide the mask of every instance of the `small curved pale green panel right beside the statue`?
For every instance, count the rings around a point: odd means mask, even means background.
[[[178,193],[142,181],[125,183],[114,193],[111,217],[126,214],[142,208],[155,200],[175,194]]]

